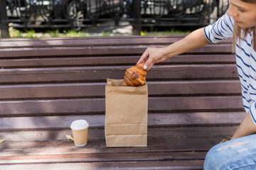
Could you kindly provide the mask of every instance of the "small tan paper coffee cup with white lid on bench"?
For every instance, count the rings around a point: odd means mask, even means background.
[[[87,145],[89,123],[86,120],[75,120],[71,123],[75,146],[82,147]]]

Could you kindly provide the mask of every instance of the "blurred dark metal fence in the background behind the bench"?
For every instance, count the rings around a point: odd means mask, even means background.
[[[14,28],[206,26],[222,16],[228,0],[0,0],[1,37]],[[122,25],[124,26],[124,25]]]

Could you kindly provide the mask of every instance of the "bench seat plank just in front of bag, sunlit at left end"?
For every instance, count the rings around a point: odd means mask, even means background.
[[[150,152],[116,154],[41,154],[22,156],[0,156],[0,164],[60,164],[82,162],[156,162],[204,159],[206,152]]]

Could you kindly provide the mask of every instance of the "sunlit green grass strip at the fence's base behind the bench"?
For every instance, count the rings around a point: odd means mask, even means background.
[[[187,35],[191,33],[191,31],[181,31],[181,30],[165,30],[165,31],[157,31],[157,30],[143,30],[141,35]],[[75,30],[63,30],[60,32],[59,30],[46,30],[44,32],[36,32],[36,30],[17,30],[15,28],[9,28],[10,38],[55,38],[55,37],[89,37],[89,36],[114,36],[116,34],[102,31],[97,35],[90,35],[89,33],[85,33],[82,31]]]

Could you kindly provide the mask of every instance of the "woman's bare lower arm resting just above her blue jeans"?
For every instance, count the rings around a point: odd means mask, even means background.
[[[234,140],[238,137],[244,137],[247,135],[252,135],[256,133],[256,125],[252,121],[252,117],[250,116],[250,113],[247,113],[245,116],[245,119],[242,120],[242,123],[239,125],[238,130],[235,131],[235,134],[231,138],[231,140]]]

